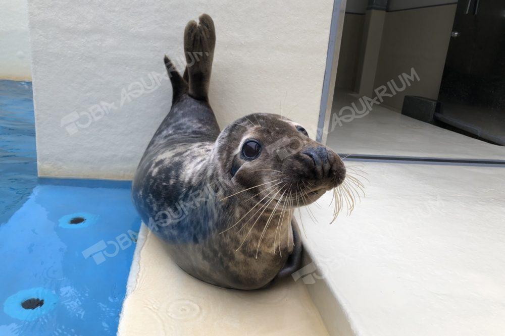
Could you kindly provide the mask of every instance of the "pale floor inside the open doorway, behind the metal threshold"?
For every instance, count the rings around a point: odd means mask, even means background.
[[[335,94],[333,114],[359,98],[342,91]],[[505,160],[503,146],[403,116],[383,105],[373,106],[365,117],[336,125],[328,134],[327,144],[346,154]]]

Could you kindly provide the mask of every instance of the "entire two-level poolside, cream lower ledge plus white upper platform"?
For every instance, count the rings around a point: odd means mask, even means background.
[[[331,194],[296,211],[306,266],[267,290],[197,281],[143,226],[119,334],[501,334],[505,169],[347,164],[366,197],[331,225]]]

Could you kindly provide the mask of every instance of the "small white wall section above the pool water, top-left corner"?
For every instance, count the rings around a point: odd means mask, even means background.
[[[26,0],[6,0],[0,10],[0,79],[31,80]]]

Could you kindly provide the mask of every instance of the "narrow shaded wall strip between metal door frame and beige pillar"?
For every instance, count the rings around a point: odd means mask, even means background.
[[[354,90],[365,15],[345,13],[336,87]]]

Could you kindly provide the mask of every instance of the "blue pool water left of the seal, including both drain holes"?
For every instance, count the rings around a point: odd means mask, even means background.
[[[0,335],[116,334],[130,183],[37,179],[30,83],[0,81],[0,124]]]

